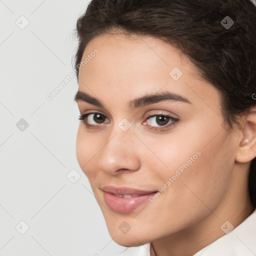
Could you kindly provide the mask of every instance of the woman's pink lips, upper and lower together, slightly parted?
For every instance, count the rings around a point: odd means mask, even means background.
[[[141,190],[131,187],[115,187],[111,185],[102,186],[103,197],[107,206],[116,212],[128,213],[136,209],[141,204],[148,201],[157,190]],[[133,197],[124,198],[115,195],[131,194]]]

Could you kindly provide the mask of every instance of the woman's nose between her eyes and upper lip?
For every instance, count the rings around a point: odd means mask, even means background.
[[[117,125],[116,125],[117,126]],[[140,167],[138,139],[132,128],[122,131],[113,128],[105,145],[98,154],[98,167],[107,174],[136,171]]]

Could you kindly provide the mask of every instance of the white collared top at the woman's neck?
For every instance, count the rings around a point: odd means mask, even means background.
[[[229,233],[197,251],[193,256],[255,256],[256,209]],[[150,256],[150,243],[126,248],[119,256]]]

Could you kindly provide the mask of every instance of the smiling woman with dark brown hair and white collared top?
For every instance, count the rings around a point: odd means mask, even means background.
[[[121,255],[256,253],[256,7],[92,0],[76,141]]]

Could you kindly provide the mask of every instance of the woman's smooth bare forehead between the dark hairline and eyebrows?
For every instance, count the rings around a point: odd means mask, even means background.
[[[98,53],[91,54],[95,49]],[[87,44],[81,61],[88,57],[79,71],[79,90],[95,92],[99,98],[114,93],[128,101],[164,88],[191,102],[204,98],[216,104],[218,100],[216,89],[196,73],[190,60],[179,49],[155,37],[101,34]],[[174,68],[182,74],[178,80],[170,75]],[[214,96],[216,100],[212,102]]]

